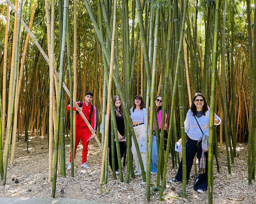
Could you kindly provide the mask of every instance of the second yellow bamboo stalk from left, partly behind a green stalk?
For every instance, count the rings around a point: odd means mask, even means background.
[[[16,10],[18,10],[18,0],[15,1]],[[15,62],[15,50],[16,50],[16,37],[17,37],[17,26],[18,26],[18,18],[15,16],[14,18],[14,29],[13,29],[13,47],[12,47],[12,59],[11,59],[11,70],[10,70],[10,80],[9,80],[9,95],[8,95],[8,116],[7,116],[7,125],[6,129],[9,127],[9,120],[10,120],[10,110],[11,110],[11,103],[12,103],[12,94],[13,94],[13,81],[14,81],[14,62]],[[5,140],[4,145],[4,155],[6,153],[7,142]]]

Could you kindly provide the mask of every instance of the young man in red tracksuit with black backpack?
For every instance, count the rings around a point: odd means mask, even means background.
[[[91,101],[93,99],[93,93],[88,91],[85,94],[84,97],[85,101],[84,102],[77,102],[77,105],[80,107],[82,103],[82,112],[88,122],[91,124],[94,132],[96,131],[96,120],[97,120],[97,115],[96,115],[96,108],[91,104]],[[92,109],[92,114],[91,114],[91,106],[93,106]],[[70,110],[70,105],[67,106],[67,109]],[[73,106],[73,110],[77,110],[76,107]],[[90,117],[91,116],[91,117]],[[77,112],[76,115],[76,142],[75,142],[75,149],[74,149],[74,159],[76,158],[76,150],[77,146],[80,143],[80,140],[82,140],[82,145],[83,145],[83,153],[82,153],[82,166],[83,168],[90,169],[88,165],[86,164],[87,160],[87,154],[88,154],[88,144],[89,144],[89,138],[90,136],[92,137],[91,131],[87,124],[84,122],[83,118],[81,115]],[[67,169],[71,169],[71,156],[69,157],[69,165]]]

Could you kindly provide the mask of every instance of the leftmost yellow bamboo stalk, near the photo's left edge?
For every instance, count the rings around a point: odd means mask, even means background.
[[[6,112],[6,71],[7,71],[7,54],[8,54],[8,36],[9,36],[9,21],[10,19],[10,7],[7,4],[6,13],[6,25],[5,25],[5,39],[4,39],[4,67],[3,67],[3,103],[2,103],[2,131],[4,135],[5,129],[5,112]],[[0,102],[1,103],[1,102]]]

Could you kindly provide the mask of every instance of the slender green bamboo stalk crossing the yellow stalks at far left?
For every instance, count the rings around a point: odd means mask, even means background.
[[[19,4],[19,17],[18,17],[18,26],[17,26],[17,37],[16,37],[16,49],[15,49],[15,64],[14,64],[14,81],[13,81],[13,92],[12,92],[12,103],[10,109],[10,120],[9,126],[6,134],[6,152],[5,152],[5,162],[4,162],[4,175],[3,175],[3,185],[6,184],[6,174],[7,174],[7,164],[8,164],[8,155],[10,149],[10,139],[12,133],[12,124],[13,124],[13,114],[14,114],[14,100],[15,100],[15,92],[16,92],[16,82],[17,82],[17,70],[18,70],[18,53],[19,53],[19,35],[20,35],[20,21],[22,16],[22,7],[23,7],[23,0],[20,1]]]

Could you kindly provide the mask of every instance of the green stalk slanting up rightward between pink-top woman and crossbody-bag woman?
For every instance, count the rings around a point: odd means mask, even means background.
[[[162,201],[162,199],[163,199],[162,196],[163,196],[164,186],[165,186],[165,182],[166,182],[165,179],[166,179],[167,162],[168,162],[168,159],[169,159],[169,148],[170,148],[169,143],[170,143],[170,136],[171,136],[171,132],[172,132],[172,130],[170,130],[170,126],[171,126],[171,129],[172,129],[174,104],[175,104],[174,103],[174,99],[175,99],[174,96],[175,96],[175,93],[176,93],[176,90],[177,90],[176,86],[177,86],[178,74],[179,74],[179,61],[180,61],[180,55],[182,53],[182,42],[183,42],[183,37],[184,37],[185,17],[186,17],[186,13],[187,13],[187,7],[188,7],[188,1],[185,0],[185,2],[184,2],[184,15],[183,15],[183,18],[182,18],[181,32],[180,32],[180,39],[179,39],[179,49],[178,49],[177,63],[176,63],[176,69],[175,69],[175,79],[174,79],[174,83],[173,83],[171,115],[170,115],[170,121],[169,121],[169,132],[168,132],[168,139],[167,139],[166,156],[165,156],[165,163],[164,163],[164,172],[163,172],[163,179],[162,179],[162,187],[161,187],[161,191],[160,191],[160,195],[159,195],[160,196],[160,199],[159,199],[160,201]],[[182,138],[183,138],[182,143],[185,144],[185,135],[182,135]],[[185,150],[185,148],[183,148],[183,159],[186,157],[186,154],[185,154],[186,152],[184,150]],[[186,161],[186,158],[185,158],[185,161]],[[183,197],[186,197],[186,194],[183,193]]]

